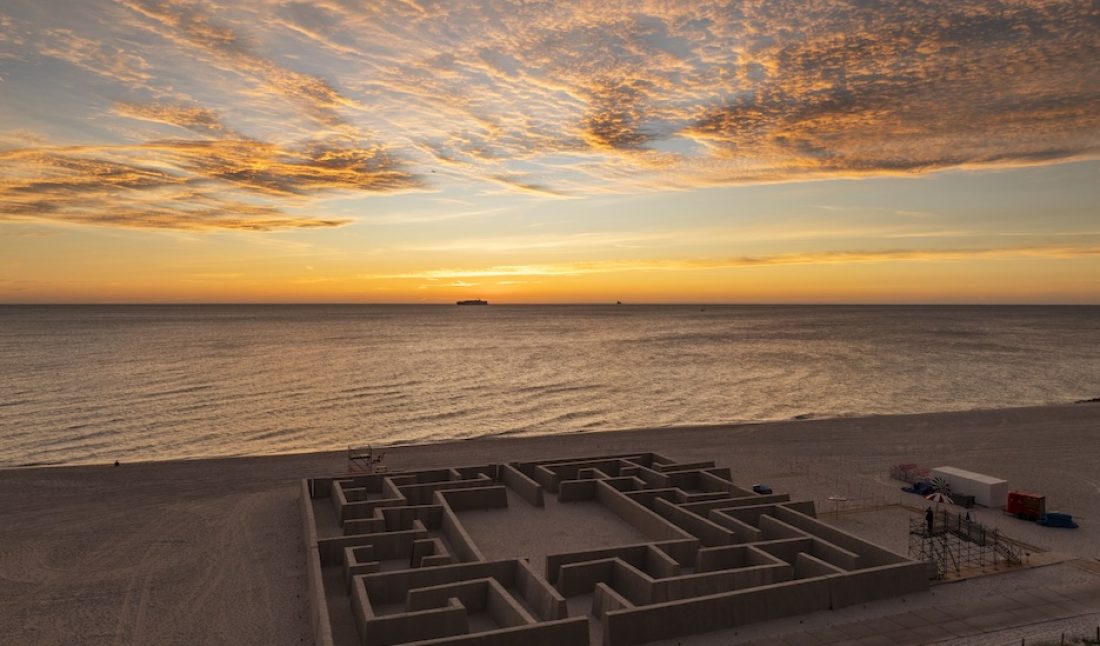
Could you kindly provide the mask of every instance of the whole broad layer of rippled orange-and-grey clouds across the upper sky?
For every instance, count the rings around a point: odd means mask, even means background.
[[[436,169],[553,197],[1100,152],[1090,1],[47,3],[0,61],[92,73],[121,134],[3,152],[9,219],[266,230]]]

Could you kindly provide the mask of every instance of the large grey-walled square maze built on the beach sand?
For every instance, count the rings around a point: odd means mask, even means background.
[[[927,589],[713,462],[598,456],[302,481],[317,644],[629,646]]]

